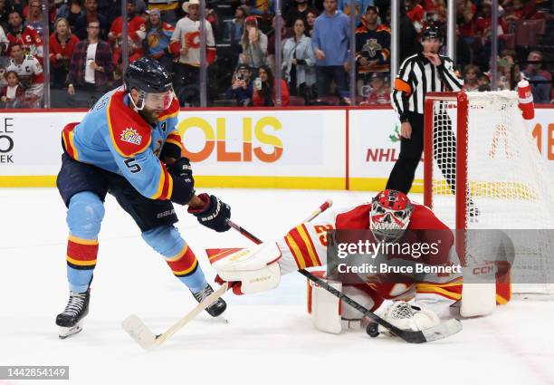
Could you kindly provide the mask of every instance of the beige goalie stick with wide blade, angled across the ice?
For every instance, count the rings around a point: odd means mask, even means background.
[[[186,323],[192,321],[198,313],[201,313],[206,307],[215,303],[219,297],[225,294],[228,288],[229,284],[225,282],[223,286],[205,297],[204,301],[198,303],[193,310],[167,329],[166,332],[162,332],[161,334],[154,334],[136,314],[129,315],[129,317],[121,322],[121,326],[123,326],[123,329],[128,332],[131,338],[139,343],[143,349],[149,351],[166,342],[169,337],[185,326]]]

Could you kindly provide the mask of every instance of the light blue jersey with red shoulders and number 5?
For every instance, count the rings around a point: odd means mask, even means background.
[[[175,98],[150,125],[129,108],[128,92],[119,88],[102,96],[81,123],[63,129],[63,145],[72,159],[122,175],[143,196],[170,199],[174,180],[158,157],[171,147],[180,157],[178,112]]]

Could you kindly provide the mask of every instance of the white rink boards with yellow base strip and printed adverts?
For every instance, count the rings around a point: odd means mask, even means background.
[[[63,126],[86,111],[2,111],[0,187],[55,186]],[[399,153],[389,108],[186,109],[184,155],[196,185],[222,188],[378,190]],[[554,109],[528,123],[554,177]],[[412,192],[422,191],[423,167]]]

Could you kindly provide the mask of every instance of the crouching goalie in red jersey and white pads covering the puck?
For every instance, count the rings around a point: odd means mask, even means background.
[[[307,267],[327,265],[328,262],[328,232],[332,230],[371,230],[372,242],[421,242],[428,240],[429,234],[439,234],[439,252],[430,257],[422,257],[427,265],[449,265],[450,259],[457,260],[454,253],[454,236],[450,229],[444,225],[433,212],[423,206],[410,202],[408,197],[400,191],[384,190],[369,203],[355,207],[329,210],[317,219],[309,223],[303,223],[291,229],[284,237],[275,243],[267,243],[262,246],[254,246],[245,250],[227,250],[214,253],[210,261],[221,277],[219,282],[233,282],[235,294],[253,294],[264,290],[270,290],[279,284],[279,276],[288,274]],[[415,230],[415,231],[407,231]],[[438,231],[435,231],[438,230]],[[354,232],[349,232],[354,234]],[[337,235],[337,233],[335,233]],[[371,236],[372,235],[372,236]],[[234,255],[233,257],[228,257]],[[384,255],[387,258],[387,255]],[[322,273],[322,272],[321,272]],[[410,281],[411,279],[411,281]],[[443,276],[438,279],[441,287],[437,293],[444,294],[446,302],[441,309],[460,298],[460,276]],[[416,296],[416,284],[412,277],[399,277],[399,274],[362,274],[357,284],[339,284],[343,293],[349,295],[356,302],[364,305],[372,312],[386,300],[392,300],[395,308],[387,310],[387,314],[398,314],[396,307],[406,307],[406,301]],[[436,283],[435,283],[436,284]],[[350,308],[349,305],[340,304],[338,299],[324,294],[316,299],[317,292],[321,291],[317,286],[310,286],[310,311],[319,318],[315,321],[316,327],[325,332],[338,332],[344,320],[358,322],[362,313]],[[313,303],[317,303],[314,311]],[[322,303],[327,303],[323,305]],[[330,303],[330,305],[328,305]],[[388,303],[387,303],[388,304]],[[319,306],[319,307],[318,307]],[[325,307],[324,315],[321,315],[321,307]],[[330,311],[329,311],[330,309]],[[419,310],[411,313],[409,320],[395,321],[392,317],[389,322],[399,322],[398,327],[424,330],[434,326],[438,320],[437,314],[430,310]],[[323,320],[323,321],[321,321]],[[329,321],[331,320],[331,321]],[[332,325],[330,325],[332,323]]]

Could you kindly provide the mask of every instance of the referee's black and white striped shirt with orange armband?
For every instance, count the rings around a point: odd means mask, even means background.
[[[460,91],[463,80],[454,71],[454,63],[439,55],[442,64],[435,66],[422,53],[408,57],[400,66],[392,91],[392,105],[400,121],[407,120],[407,111],[424,113],[427,92]]]

